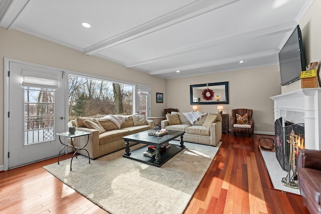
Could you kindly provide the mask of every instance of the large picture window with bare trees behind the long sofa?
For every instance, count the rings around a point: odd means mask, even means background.
[[[133,113],[133,86],[76,75],[68,76],[69,120]]]

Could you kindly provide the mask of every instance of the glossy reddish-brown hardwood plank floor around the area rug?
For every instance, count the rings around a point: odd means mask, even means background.
[[[300,195],[272,188],[258,148],[263,136],[223,134],[185,213],[308,213]],[[55,162],[52,158],[0,172],[0,213],[107,213],[43,168]]]

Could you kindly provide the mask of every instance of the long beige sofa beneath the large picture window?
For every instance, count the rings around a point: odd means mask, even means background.
[[[76,130],[91,133],[85,149],[88,150],[89,156],[92,159],[125,148],[125,141],[122,137],[154,128],[152,120],[146,120],[144,116],[137,114],[126,116],[126,120],[121,124],[120,128],[118,128],[114,122],[104,118],[93,119],[80,117],[70,123],[76,126]],[[101,129],[101,127],[103,129]],[[87,136],[77,137],[75,138],[74,144],[77,146],[84,145],[87,139]],[[131,145],[134,144],[135,143],[131,143]],[[79,153],[88,156],[86,151],[80,150]]]

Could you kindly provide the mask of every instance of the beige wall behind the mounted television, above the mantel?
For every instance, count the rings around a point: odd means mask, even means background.
[[[305,52],[306,63],[319,62],[318,76],[320,79],[320,62],[321,62],[321,1],[317,0],[312,3],[310,8],[299,21],[302,33],[302,41]],[[301,88],[301,80],[298,80],[288,86],[282,86],[282,94]]]

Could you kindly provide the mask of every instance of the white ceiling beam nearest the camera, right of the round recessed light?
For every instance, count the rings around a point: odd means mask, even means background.
[[[185,20],[197,17],[204,13],[213,11],[223,6],[232,4],[240,0],[198,0],[164,16],[153,19],[147,23],[139,25],[133,29],[120,33],[112,38],[97,43],[85,49],[85,54],[93,55],[100,51],[112,48],[125,42],[137,39],[150,33],[159,31]]]

